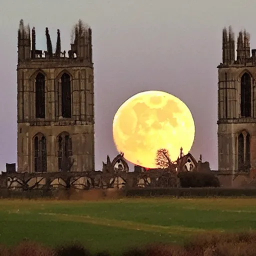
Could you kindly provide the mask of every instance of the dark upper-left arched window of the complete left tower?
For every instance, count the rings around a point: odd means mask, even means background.
[[[45,77],[38,73],[35,77],[35,117],[45,118]]]

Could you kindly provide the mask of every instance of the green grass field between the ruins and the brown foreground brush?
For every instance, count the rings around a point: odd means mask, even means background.
[[[0,243],[80,241],[118,253],[151,242],[183,242],[206,230],[256,228],[254,198],[149,198],[102,201],[0,200]]]

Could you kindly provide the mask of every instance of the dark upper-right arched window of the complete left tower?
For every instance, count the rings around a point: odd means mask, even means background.
[[[61,115],[62,117],[71,117],[71,86],[70,76],[63,73],[61,76]]]

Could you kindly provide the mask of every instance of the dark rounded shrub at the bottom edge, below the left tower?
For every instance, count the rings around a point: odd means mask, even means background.
[[[62,245],[55,249],[56,256],[90,256],[88,250],[86,250],[83,245],[79,243],[74,243],[70,245]]]

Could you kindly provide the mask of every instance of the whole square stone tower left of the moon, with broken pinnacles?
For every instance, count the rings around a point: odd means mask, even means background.
[[[71,48],[36,49],[35,28],[20,20],[17,63],[18,172],[94,170],[91,29],[74,26]]]

